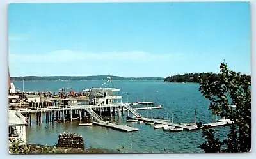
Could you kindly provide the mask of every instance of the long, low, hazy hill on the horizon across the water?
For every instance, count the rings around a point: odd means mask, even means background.
[[[11,77],[12,81],[31,81],[31,80],[106,80],[108,75],[95,76],[25,76]],[[112,80],[164,80],[163,77],[120,77],[111,76]]]

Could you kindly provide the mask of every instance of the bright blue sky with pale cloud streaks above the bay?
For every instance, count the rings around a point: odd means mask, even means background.
[[[10,4],[11,76],[250,74],[250,4]]]

